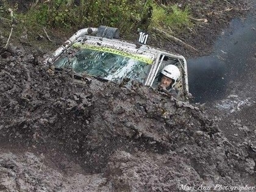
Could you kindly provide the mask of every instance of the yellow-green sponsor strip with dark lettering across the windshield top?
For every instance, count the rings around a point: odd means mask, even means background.
[[[73,47],[74,48],[92,49],[92,50],[102,51],[102,52],[110,52],[112,54],[121,55],[121,56],[124,56],[124,57],[129,57],[129,58],[132,58],[132,59],[135,59],[135,60],[139,60],[139,61],[144,62],[144,63],[148,63],[148,64],[153,63],[153,60],[149,57],[146,57],[146,55],[132,54],[132,53],[120,51],[120,50],[117,50],[117,49],[105,48],[103,46],[95,46],[93,44],[74,43]]]

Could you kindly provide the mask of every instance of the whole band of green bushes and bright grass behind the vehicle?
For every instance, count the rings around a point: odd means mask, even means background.
[[[2,0],[5,2],[7,0]],[[160,27],[182,30],[190,26],[188,8],[160,6],[154,0],[49,0],[32,4],[26,13],[16,15],[23,27],[34,31],[41,27],[78,30],[101,25],[117,27],[122,35]],[[151,10],[152,12],[149,10]],[[0,9],[0,14],[2,10]],[[38,26],[39,25],[39,26]],[[165,26],[165,27],[162,27]]]

